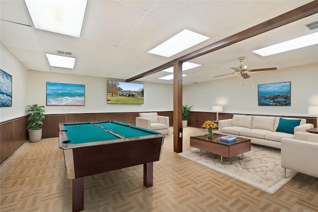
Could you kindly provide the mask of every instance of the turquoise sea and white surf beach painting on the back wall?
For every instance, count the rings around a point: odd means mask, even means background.
[[[85,85],[46,82],[46,105],[85,105]]]

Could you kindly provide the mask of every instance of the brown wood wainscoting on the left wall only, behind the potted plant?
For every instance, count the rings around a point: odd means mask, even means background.
[[[28,140],[27,116],[0,123],[0,164]]]

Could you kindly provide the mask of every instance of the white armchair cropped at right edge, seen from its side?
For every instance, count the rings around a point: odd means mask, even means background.
[[[294,139],[281,141],[281,165],[286,168],[318,177],[318,134],[296,132]]]

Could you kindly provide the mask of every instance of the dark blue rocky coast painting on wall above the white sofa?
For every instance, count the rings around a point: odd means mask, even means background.
[[[290,81],[258,85],[259,106],[290,106]]]

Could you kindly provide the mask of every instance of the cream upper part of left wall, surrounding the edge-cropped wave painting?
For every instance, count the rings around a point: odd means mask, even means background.
[[[28,70],[0,43],[0,69],[12,76],[12,107],[0,107],[0,121],[25,116]]]

